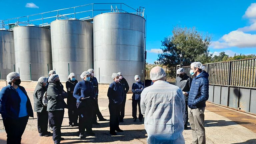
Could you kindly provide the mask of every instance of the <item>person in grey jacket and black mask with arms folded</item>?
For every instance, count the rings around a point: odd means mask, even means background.
[[[49,86],[47,88],[47,111],[49,112],[50,121],[53,126],[52,139],[55,144],[59,144],[63,138],[61,138],[61,124],[64,116],[64,108],[67,108],[67,104],[64,98],[68,97],[68,94],[63,90],[60,85],[59,76],[53,74],[48,79]]]

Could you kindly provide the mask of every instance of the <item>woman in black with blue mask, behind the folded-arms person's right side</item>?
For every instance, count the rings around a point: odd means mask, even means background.
[[[68,81],[66,82],[66,88],[68,93],[67,104],[68,104],[68,119],[69,126],[78,126],[78,113],[76,107],[76,98],[73,97],[74,88],[78,81],[74,73],[70,73]]]

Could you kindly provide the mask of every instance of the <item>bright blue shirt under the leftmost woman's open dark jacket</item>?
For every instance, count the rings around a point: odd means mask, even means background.
[[[27,112],[27,96],[24,94],[24,92],[18,87],[17,92],[20,96],[20,112],[19,112],[19,117],[24,117],[28,115]]]

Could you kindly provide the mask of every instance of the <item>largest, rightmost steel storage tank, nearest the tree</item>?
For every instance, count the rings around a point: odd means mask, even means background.
[[[130,89],[134,76],[144,78],[145,19],[131,13],[104,13],[93,18],[95,76],[111,83],[122,72]]]

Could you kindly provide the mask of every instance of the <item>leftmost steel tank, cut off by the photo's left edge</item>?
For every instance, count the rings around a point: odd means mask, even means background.
[[[14,40],[13,32],[0,30],[0,78],[14,71]]]

